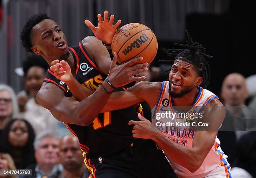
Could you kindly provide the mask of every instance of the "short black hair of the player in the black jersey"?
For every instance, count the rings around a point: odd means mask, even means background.
[[[31,43],[31,30],[32,28],[40,23],[41,21],[45,19],[51,19],[46,14],[35,14],[31,16],[26,24],[24,25],[21,33],[20,33],[20,40],[22,46],[26,49],[26,51],[33,53],[31,50],[32,43]]]

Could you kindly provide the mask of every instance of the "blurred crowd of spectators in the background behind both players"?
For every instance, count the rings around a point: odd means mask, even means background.
[[[8,85],[0,84],[0,170],[31,169],[31,178],[85,177],[78,139],[35,100],[48,67],[43,58],[32,55],[22,70],[16,70],[23,77],[24,90],[16,95]],[[161,72],[166,68],[149,66],[141,75],[148,81],[167,80],[168,72]],[[255,80],[255,76],[246,79],[231,73],[220,88],[226,116],[218,138],[235,178],[256,177]]]

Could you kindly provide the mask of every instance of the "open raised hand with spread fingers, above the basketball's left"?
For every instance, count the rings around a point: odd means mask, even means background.
[[[118,28],[118,26],[121,24],[121,20],[118,20],[115,25],[114,23],[114,15],[110,16],[110,20],[108,21],[108,11],[104,11],[104,21],[102,20],[102,17],[100,14],[98,14],[98,26],[95,27],[92,25],[90,20],[84,20],[84,23],[92,30],[96,38],[103,41],[106,44],[111,44],[113,36],[115,35],[115,32]]]

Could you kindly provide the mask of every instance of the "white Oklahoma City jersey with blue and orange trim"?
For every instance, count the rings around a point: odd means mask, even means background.
[[[195,135],[195,130],[190,127],[186,126],[176,126],[176,123],[185,123],[185,118],[162,118],[156,119],[157,115],[161,116],[161,113],[166,113],[169,111],[174,113],[174,108],[172,107],[172,98],[168,92],[169,89],[169,81],[163,82],[161,86],[161,92],[159,94],[159,98],[155,107],[151,110],[153,113],[153,120],[152,124],[156,126],[164,135],[169,137],[177,144],[181,144],[184,146],[192,147],[193,137]],[[195,104],[193,105],[192,109],[194,112],[199,112],[199,109],[202,108],[204,105],[210,102],[213,98],[218,98],[209,90],[199,88],[200,92],[195,100]],[[158,114],[157,114],[158,113]],[[159,114],[160,113],[160,114]],[[163,116],[163,115],[162,115]],[[168,116],[166,116],[168,117]],[[159,126],[156,125],[157,122],[160,123],[174,123],[172,126],[169,124],[168,126]],[[227,161],[228,156],[223,153],[220,148],[220,140],[216,137],[215,143],[212,145],[209,153],[207,154],[205,160],[203,161],[202,165],[198,170],[194,173],[191,173],[189,170],[184,168],[183,166],[174,163],[170,157],[166,155],[167,159],[169,160],[170,165],[172,166],[174,172],[182,178],[231,178],[230,175],[230,166]],[[181,159],[186,159],[182,157]]]

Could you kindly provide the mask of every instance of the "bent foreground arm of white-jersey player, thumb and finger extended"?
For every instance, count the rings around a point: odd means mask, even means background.
[[[218,99],[213,99],[203,108],[203,111],[203,123],[209,123],[210,127],[196,130],[192,147],[174,143],[141,115],[139,115],[141,121],[130,121],[129,125],[135,125],[132,131],[133,137],[154,140],[175,163],[182,165],[190,172],[195,172],[215,143],[218,127],[225,117],[225,108]],[[181,159],[182,157],[186,159]]]

